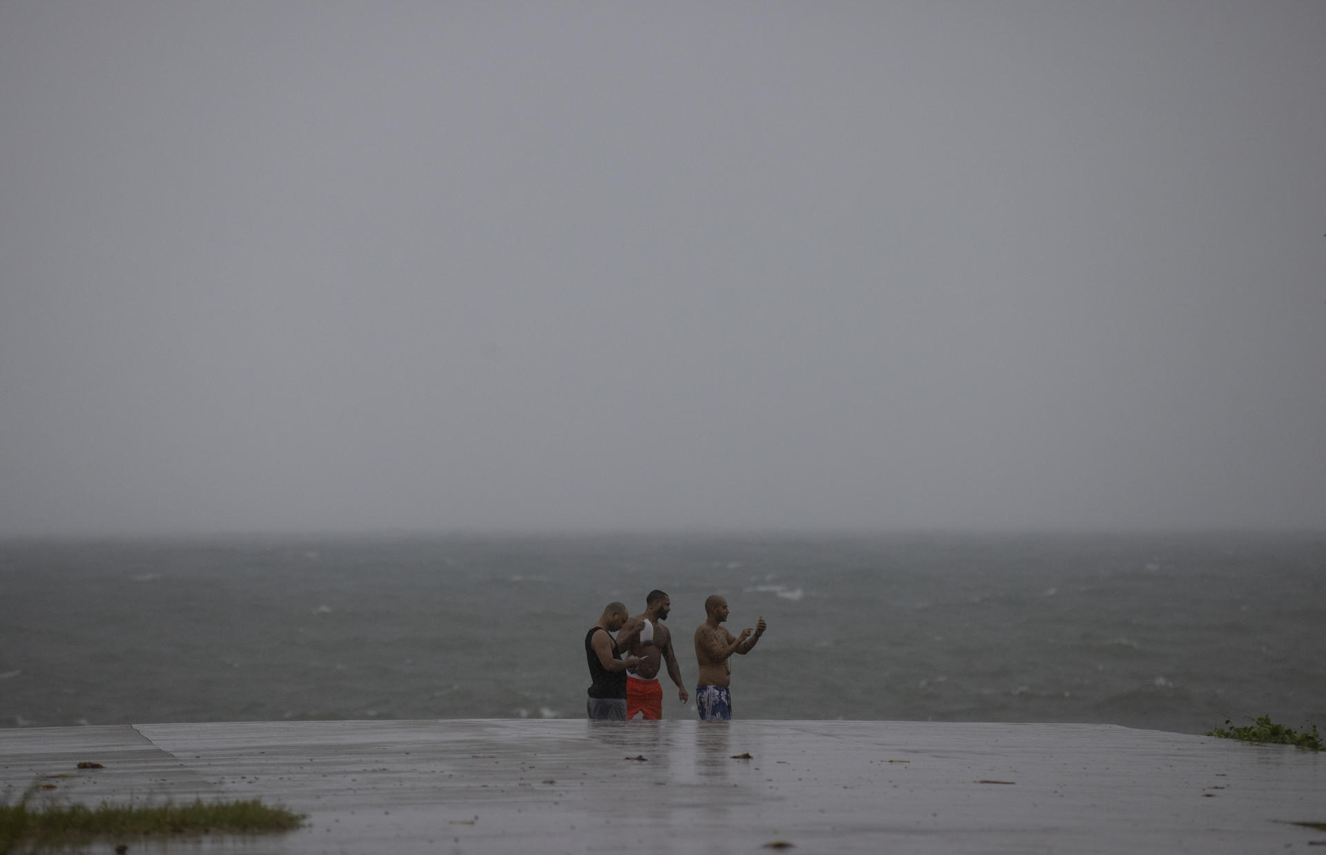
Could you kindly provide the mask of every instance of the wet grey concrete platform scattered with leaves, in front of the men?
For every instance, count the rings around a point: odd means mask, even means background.
[[[80,770],[84,761],[105,768]],[[129,840],[130,851],[1326,852],[1326,831],[1294,825],[1326,822],[1326,753],[1110,725],[447,720],[0,730],[0,787],[12,799],[33,783],[48,785],[38,801],[261,798],[306,814],[304,828],[285,835]]]

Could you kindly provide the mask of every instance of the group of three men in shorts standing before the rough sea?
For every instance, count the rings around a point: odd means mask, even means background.
[[[690,700],[682,681],[682,668],[672,651],[672,634],[663,623],[672,600],[659,590],[644,598],[644,611],[634,618],[622,603],[609,603],[602,616],[585,635],[585,659],[593,684],[585,709],[590,718],[625,721],[642,714],[663,717],[663,687],[659,668],[676,684],[678,699]],[[728,619],[728,600],[717,594],[704,600],[705,620],[695,630],[695,659],[700,673],[695,687],[695,707],[700,718],[732,717],[732,695],[728,689],[732,654],[749,654],[764,635],[764,618],[754,628],[741,630],[733,638],[723,622]],[[615,634],[615,638],[613,636]]]

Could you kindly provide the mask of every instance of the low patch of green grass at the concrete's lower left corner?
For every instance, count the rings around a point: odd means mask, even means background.
[[[304,817],[259,799],[176,805],[29,806],[29,794],[17,803],[0,805],[0,855],[19,846],[62,846],[111,838],[171,836],[179,834],[264,834],[298,828]]]

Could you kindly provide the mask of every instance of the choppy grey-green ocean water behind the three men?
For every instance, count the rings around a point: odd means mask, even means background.
[[[0,541],[0,726],[578,717],[654,587],[743,718],[1326,725],[1323,534],[896,534]]]

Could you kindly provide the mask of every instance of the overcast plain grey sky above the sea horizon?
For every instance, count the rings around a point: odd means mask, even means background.
[[[0,3],[0,533],[1326,525],[1326,3]]]

